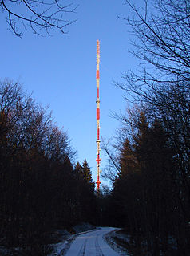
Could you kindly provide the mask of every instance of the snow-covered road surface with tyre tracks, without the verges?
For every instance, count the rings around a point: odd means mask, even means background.
[[[75,238],[65,256],[119,256],[104,240],[103,236],[114,228],[101,228],[80,234]]]

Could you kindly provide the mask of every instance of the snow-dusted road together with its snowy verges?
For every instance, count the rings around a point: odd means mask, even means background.
[[[96,230],[75,234],[66,242],[60,243],[53,255],[57,256],[119,256],[128,255],[114,244],[109,234],[115,228],[101,227]]]

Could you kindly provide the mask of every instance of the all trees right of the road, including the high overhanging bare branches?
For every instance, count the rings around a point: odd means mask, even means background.
[[[153,1],[155,9],[126,2],[142,68],[117,84],[130,107],[119,116],[116,153],[105,148],[117,169],[105,213],[125,227],[133,255],[189,255],[189,2]]]

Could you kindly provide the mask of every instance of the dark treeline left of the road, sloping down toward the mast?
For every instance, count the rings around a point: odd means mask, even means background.
[[[46,108],[18,83],[1,81],[1,244],[42,245],[57,227],[93,223],[92,175],[87,161],[73,164],[74,156],[69,136],[57,128]]]

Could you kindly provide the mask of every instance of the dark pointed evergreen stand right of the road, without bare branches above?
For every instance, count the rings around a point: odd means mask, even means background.
[[[109,196],[110,220],[125,227],[137,255],[188,255],[189,159],[182,162],[160,120],[148,120],[144,112],[133,119]]]

